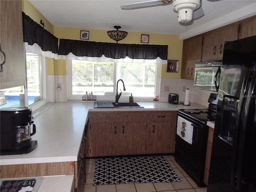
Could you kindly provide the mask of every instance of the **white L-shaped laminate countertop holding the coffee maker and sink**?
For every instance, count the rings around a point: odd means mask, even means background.
[[[169,104],[168,102],[138,102],[144,108],[96,108],[93,101],[57,102],[33,119],[36,134],[32,140],[38,141],[35,150],[22,155],[2,155],[0,165],[32,164],[48,162],[77,161],[84,126],[88,111],[143,111],[143,110],[178,110],[207,108],[191,103]],[[33,115],[33,113],[32,113]]]

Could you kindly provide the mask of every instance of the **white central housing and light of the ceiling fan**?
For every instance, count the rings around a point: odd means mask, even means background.
[[[179,22],[190,22],[193,19],[193,11],[200,6],[200,0],[174,0],[172,2],[172,9],[178,11]]]

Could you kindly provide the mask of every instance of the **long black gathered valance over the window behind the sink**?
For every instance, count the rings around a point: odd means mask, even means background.
[[[101,57],[120,59],[128,56],[132,59],[167,60],[168,45],[117,44],[90,42],[82,40],[60,39],[59,55]]]

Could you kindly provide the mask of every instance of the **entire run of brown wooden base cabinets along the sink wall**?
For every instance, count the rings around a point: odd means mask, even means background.
[[[176,113],[89,112],[87,156],[173,153]]]

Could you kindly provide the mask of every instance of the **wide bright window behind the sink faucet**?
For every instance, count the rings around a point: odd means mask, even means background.
[[[82,99],[82,95],[93,92],[97,100],[114,100],[116,82],[120,100],[127,100],[132,95],[137,100],[152,100],[158,93],[158,71],[156,63],[94,62],[72,60],[68,62],[68,99]],[[69,73],[72,71],[72,74]]]

